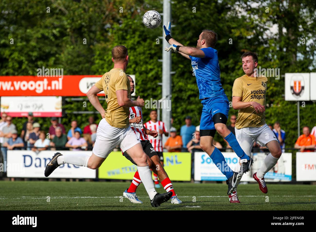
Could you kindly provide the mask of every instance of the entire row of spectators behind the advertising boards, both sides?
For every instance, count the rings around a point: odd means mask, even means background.
[[[171,127],[170,137],[164,144],[164,148],[168,152],[191,152],[202,151],[200,146],[199,126],[192,125],[191,116],[185,117],[185,125],[181,126],[179,135],[177,129]],[[235,134],[236,115],[232,115],[229,119],[228,129]],[[173,120],[172,120],[173,121]],[[94,123],[94,117],[89,117],[88,125],[83,130],[78,127],[76,121],[71,122],[71,128],[66,133],[64,125],[58,123],[56,117],[51,118],[51,126],[48,133],[41,130],[40,123],[36,122],[33,113],[29,113],[27,121],[24,122],[20,136],[16,126],[12,123],[12,117],[6,113],[2,113],[0,120],[0,145],[3,161],[6,161],[7,150],[32,150],[40,152],[43,150],[88,150],[92,149],[96,139],[96,130],[98,125]],[[279,122],[269,125],[279,141],[280,147],[284,152],[286,133],[281,129]],[[297,139],[294,148],[301,152],[313,152],[316,146],[316,126],[313,127],[312,133],[310,129],[303,127],[303,134]],[[226,142],[227,151],[232,151],[228,142]],[[222,145],[213,140],[213,145],[218,149],[224,149]],[[254,148],[265,149],[254,142]],[[229,150],[230,149],[230,150]]]

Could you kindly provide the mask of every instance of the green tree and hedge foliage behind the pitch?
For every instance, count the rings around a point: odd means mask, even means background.
[[[146,99],[160,99],[162,65],[161,27],[148,29],[142,16],[149,9],[162,12],[162,1],[61,1],[3,0],[0,21],[0,75],[36,75],[39,67],[64,68],[67,74],[103,74],[112,68],[111,49],[123,44],[129,49],[127,73],[136,75],[136,93]],[[50,7],[50,13],[47,13]],[[121,8],[122,7],[122,8]],[[196,8],[196,13],[192,8]],[[267,12],[267,7],[269,12]],[[120,12],[123,9],[123,12]],[[162,16],[163,17],[163,16]],[[184,45],[196,46],[203,29],[218,33],[216,49],[221,68],[222,86],[232,99],[232,85],[244,73],[240,56],[256,51],[259,66],[280,68],[286,72],[315,72],[316,34],[315,4],[309,0],[188,0],[172,2],[172,36]],[[270,28],[276,26],[276,31]],[[161,25],[162,26],[162,25]],[[14,45],[10,39],[14,39]],[[87,39],[87,44],[83,44]],[[305,39],[305,44],[302,42]],[[229,41],[232,41],[232,44]],[[172,54],[172,116],[177,129],[186,115],[199,124],[202,105],[189,60]],[[267,91],[266,121],[279,121],[286,131],[286,146],[293,147],[297,139],[296,102],[284,101],[284,77],[270,78]],[[102,104],[105,104],[103,101]],[[301,128],[316,122],[315,103],[301,107]],[[83,128],[89,114],[73,111],[95,111],[87,101],[69,101],[63,105],[62,123],[70,128],[77,120]],[[230,115],[237,114],[231,108]],[[149,109],[143,109],[144,121]],[[97,117],[97,122],[100,116]],[[21,131],[26,119],[16,118]],[[37,119],[48,130],[50,119]],[[216,140],[225,145],[216,134]]]

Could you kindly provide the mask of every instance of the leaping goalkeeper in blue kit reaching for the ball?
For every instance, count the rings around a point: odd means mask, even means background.
[[[236,140],[235,135],[226,126],[229,103],[221,84],[220,68],[217,50],[214,49],[217,42],[217,34],[211,30],[203,30],[197,40],[197,47],[183,46],[170,35],[171,23],[163,26],[165,39],[170,44],[165,51],[180,53],[191,60],[193,72],[199,89],[199,99],[203,105],[200,123],[200,146],[216,164],[217,168],[226,176],[228,184],[228,197],[231,203],[240,203],[237,196],[237,185],[241,174],[249,171],[252,158],[246,155]],[[240,157],[240,172],[234,172],[225,161],[223,154],[213,146],[215,132],[218,132]]]

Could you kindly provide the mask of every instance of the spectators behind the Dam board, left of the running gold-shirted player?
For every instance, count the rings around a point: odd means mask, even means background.
[[[16,126],[12,123],[12,117],[2,113],[0,120],[0,145],[3,162],[7,160],[8,150],[32,150],[40,152],[44,150],[88,150],[92,149],[96,139],[98,125],[94,123],[94,117],[89,117],[89,124],[83,128],[78,127],[76,121],[71,122],[71,128],[67,132],[64,125],[58,123],[56,117],[51,118],[51,126],[48,133],[41,130],[40,123],[36,122],[33,113],[28,113],[20,136]]]

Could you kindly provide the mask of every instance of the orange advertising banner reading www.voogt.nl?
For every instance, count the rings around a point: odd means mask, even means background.
[[[102,75],[0,76],[0,96],[86,96]],[[102,96],[104,92],[100,92]]]

